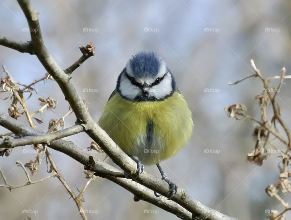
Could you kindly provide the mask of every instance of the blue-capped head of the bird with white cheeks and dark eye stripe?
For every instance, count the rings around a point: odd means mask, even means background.
[[[153,52],[132,56],[120,73],[116,89],[132,101],[159,101],[175,91],[175,79],[165,61]]]

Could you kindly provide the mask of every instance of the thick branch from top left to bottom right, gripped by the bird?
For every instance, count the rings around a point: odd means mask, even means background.
[[[18,0],[22,11],[25,14],[25,17],[28,22],[29,28],[35,29],[37,31],[30,32],[32,39],[32,46],[37,55],[39,61],[42,63],[46,71],[52,75],[55,81],[59,84],[65,99],[69,102],[72,107],[77,120],[82,123],[85,127],[85,132],[104,150],[104,152],[112,158],[119,167],[122,168],[129,175],[134,176],[137,169],[136,163],[129,158],[109,137],[109,135],[102,130],[97,123],[92,119],[89,114],[83,100],[79,96],[75,87],[70,81],[70,76],[67,75],[62,68],[55,62],[52,56],[49,54],[47,48],[44,45],[39,22],[38,22],[38,12],[35,8],[32,7],[29,0]],[[2,123],[2,122],[1,122]],[[82,158],[84,159],[84,158]],[[88,159],[86,160],[86,162]],[[146,186],[158,192],[161,195],[169,195],[169,185],[144,171],[139,177],[135,180],[140,184]],[[234,219],[226,215],[221,214],[205,205],[202,205],[200,202],[193,200],[185,191],[178,189],[176,195],[172,198],[173,201],[177,202],[182,207],[186,208],[189,212],[192,213],[192,218],[203,218],[203,219]]]

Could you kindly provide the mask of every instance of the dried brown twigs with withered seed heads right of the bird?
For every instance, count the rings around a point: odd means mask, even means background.
[[[275,152],[279,153],[279,156],[282,159],[282,165],[279,164],[278,166],[280,171],[279,180],[274,184],[268,185],[266,187],[266,193],[270,197],[275,197],[285,208],[285,210],[281,213],[272,209],[269,218],[271,220],[284,220],[286,219],[285,213],[288,210],[291,210],[291,207],[278,194],[279,191],[283,192],[283,194],[286,194],[287,192],[291,193],[291,181],[289,180],[291,177],[291,170],[288,169],[288,166],[291,164],[291,133],[289,127],[281,118],[280,108],[276,102],[276,96],[280,92],[284,79],[291,78],[291,76],[285,75],[286,69],[283,67],[280,76],[264,78],[253,60],[251,60],[251,66],[253,67],[255,74],[249,75],[234,83],[229,83],[229,85],[237,84],[250,77],[259,77],[261,79],[263,82],[264,90],[262,94],[256,96],[256,99],[259,100],[259,106],[261,108],[261,119],[257,120],[246,114],[246,107],[243,108],[242,106],[244,105],[241,104],[228,106],[225,108],[225,112],[227,112],[228,116],[231,118],[240,119],[239,116],[242,116],[243,118],[256,123],[253,133],[257,141],[255,148],[248,153],[248,160],[250,162],[262,165],[263,160],[267,159],[270,155],[270,150],[266,148],[268,144],[272,148],[276,149]],[[274,87],[270,82],[271,79],[280,79],[279,85]],[[273,109],[273,116],[271,120],[268,120],[266,115],[266,108],[269,106],[269,104],[271,104]],[[280,134],[276,123],[279,123],[282,126],[286,137]],[[270,141],[271,134],[274,136],[272,141]],[[273,143],[273,141],[276,139],[280,140],[281,143],[286,145],[286,151],[277,149],[276,145]]]

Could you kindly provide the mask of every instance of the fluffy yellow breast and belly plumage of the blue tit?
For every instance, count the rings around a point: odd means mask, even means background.
[[[178,92],[153,102],[133,102],[116,92],[99,125],[125,153],[137,156],[143,164],[155,164],[172,157],[188,142],[193,121]]]

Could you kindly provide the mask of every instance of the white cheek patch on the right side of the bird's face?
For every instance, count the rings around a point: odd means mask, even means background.
[[[154,96],[157,99],[165,98],[172,93],[172,78],[167,75],[158,85],[152,86],[150,89],[150,96]]]

